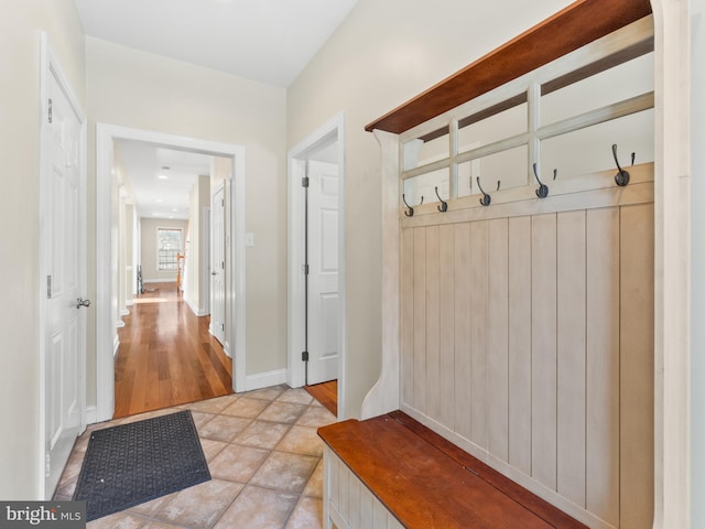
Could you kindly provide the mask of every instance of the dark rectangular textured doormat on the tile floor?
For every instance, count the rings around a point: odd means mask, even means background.
[[[208,479],[186,410],[93,432],[74,499],[90,521]]]

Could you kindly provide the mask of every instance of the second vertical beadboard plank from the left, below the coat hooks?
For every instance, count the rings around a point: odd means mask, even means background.
[[[426,228],[414,228],[414,407],[426,412]]]

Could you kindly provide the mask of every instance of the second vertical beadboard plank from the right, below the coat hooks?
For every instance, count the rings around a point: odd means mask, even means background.
[[[587,212],[586,508],[619,526],[619,208]]]

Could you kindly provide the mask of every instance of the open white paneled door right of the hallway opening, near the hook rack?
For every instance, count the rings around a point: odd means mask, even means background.
[[[308,161],[308,384],[338,378],[338,166]]]

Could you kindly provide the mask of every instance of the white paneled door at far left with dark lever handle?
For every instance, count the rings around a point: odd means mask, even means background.
[[[51,75],[46,201],[46,324],[45,361],[45,493],[51,495],[68,460],[76,436],[85,428],[85,306],[80,153],[82,125],[69,99]]]

